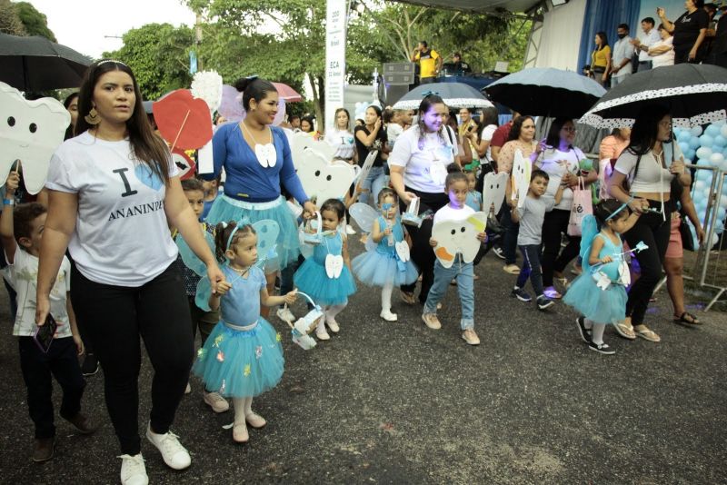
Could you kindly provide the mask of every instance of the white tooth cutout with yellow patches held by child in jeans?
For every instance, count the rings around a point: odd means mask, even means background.
[[[464,262],[472,262],[480,250],[477,234],[484,233],[487,214],[473,213],[463,221],[444,221],[434,224],[432,239],[437,242],[434,254],[445,268],[451,268],[457,252]]]

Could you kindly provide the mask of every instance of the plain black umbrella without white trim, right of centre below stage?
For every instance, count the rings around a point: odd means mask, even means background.
[[[584,75],[562,69],[532,67],[508,74],[484,91],[491,100],[518,113],[578,118],[606,93]]]

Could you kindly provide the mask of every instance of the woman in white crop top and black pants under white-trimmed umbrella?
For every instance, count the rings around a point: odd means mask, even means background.
[[[621,153],[609,184],[611,195],[641,214],[633,227],[623,233],[629,246],[645,243],[648,249],[637,252],[641,277],[632,284],[626,302],[626,321],[615,326],[622,337],[636,336],[647,341],[660,341],[643,318],[656,283],[662,278],[662,264],[669,245],[672,223],[672,179],[679,177],[684,187],[692,177],[684,166],[679,144],[671,143],[672,116],[660,105],[645,107],[636,117],[629,147]],[[628,179],[627,192],[622,184]]]

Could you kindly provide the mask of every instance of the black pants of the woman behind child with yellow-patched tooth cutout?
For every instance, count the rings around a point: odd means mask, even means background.
[[[425,213],[426,211],[432,211],[436,213],[449,202],[446,193],[425,193],[418,192],[409,187],[405,187],[406,192],[415,193],[419,197],[419,213]],[[402,213],[406,211],[406,204],[402,201],[399,202]],[[433,219],[427,217],[423,220],[422,227],[416,227],[413,225],[406,225],[406,232],[412,237],[412,261],[419,268],[419,272],[422,273],[422,290],[419,292],[419,301],[426,302],[426,297],[429,294],[429,289],[432,288],[434,282],[434,251],[432,246],[429,245],[429,240],[432,238],[432,225]],[[416,288],[416,282],[412,284],[403,284],[401,286],[402,292],[412,293]]]

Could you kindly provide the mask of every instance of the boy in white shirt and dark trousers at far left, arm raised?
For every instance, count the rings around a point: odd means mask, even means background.
[[[38,253],[45,225],[46,209],[39,203],[15,206],[15,189],[20,177],[11,172],[6,182],[3,213],[0,216],[0,239],[5,250],[5,278],[17,292],[17,314],[13,335],[18,337],[20,367],[27,387],[30,418],[35,423],[33,460],[50,460],[55,451],[54,410],[51,375],[63,389],[60,415],[83,434],[95,431],[95,425],[81,413],[85,380],[78,365],[84,344],[75,324],[69,299],[71,264],[64,256],[61,270],[51,292],[51,315],[58,327],[54,341],[42,351],[34,339],[35,292],[38,278]],[[20,251],[18,251],[20,248]]]

